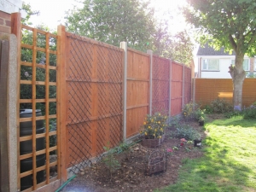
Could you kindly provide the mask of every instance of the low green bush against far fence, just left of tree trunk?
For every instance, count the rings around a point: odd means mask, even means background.
[[[211,108],[213,113],[230,113],[233,111],[233,106],[225,99],[215,99],[211,102]]]

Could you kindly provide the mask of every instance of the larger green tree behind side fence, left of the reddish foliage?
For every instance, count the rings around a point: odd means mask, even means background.
[[[154,9],[147,2],[84,0],[83,4],[67,12],[67,31],[115,46],[125,41],[133,49],[148,49],[154,34]]]

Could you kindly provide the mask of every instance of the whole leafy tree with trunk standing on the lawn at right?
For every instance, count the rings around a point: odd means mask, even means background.
[[[201,32],[200,41],[215,49],[236,52],[235,66],[230,66],[235,106],[242,107],[242,84],[246,73],[244,55],[256,53],[256,2],[254,0],[188,0],[184,15]]]

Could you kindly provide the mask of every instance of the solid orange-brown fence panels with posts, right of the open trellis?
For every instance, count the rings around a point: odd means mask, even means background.
[[[176,115],[191,99],[191,71],[183,64],[125,43],[120,49],[80,37],[64,26],[58,35],[61,122],[66,122],[62,163],[68,172],[100,159],[104,146],[136,136],[148,113]]]

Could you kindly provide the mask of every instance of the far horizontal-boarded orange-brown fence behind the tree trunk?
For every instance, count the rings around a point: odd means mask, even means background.
[[[256,79],[245,79],[242,86],[242,105],[249,107],[256,102]],[[220,98],[232,103],[232,79],[194,79],[194,102],[209,105],[213,100]]]

